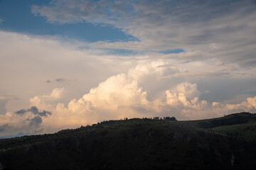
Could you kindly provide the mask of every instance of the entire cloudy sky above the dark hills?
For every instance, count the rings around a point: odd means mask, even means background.
[[[0,137],[256,112],[255,0],[0,0]]]

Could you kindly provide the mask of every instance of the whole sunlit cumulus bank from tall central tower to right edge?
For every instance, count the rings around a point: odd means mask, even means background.
[[[161,60],[138,64],[127,74],[117,74],[90,89],[80,99],[73,99],[65,107],[58,103],[54,109],[55,123],[58,116],[66,123],[95,123],[100,120],[175,115],[178,119],[199,119],[218,117],[235,111],[255,111],[255,98],[247,98],[247,106],[237,108],[220,102],[200,100],[201,92],[195,83],[183,81],[159,95],[151,96],[146,88],[149,78],[152,86],[163,81],[166,72],[174,72],[172,66]],[[154,79],[157,77],[158,79]],[[152,85],[153,84],[153,85]],[[157,88],[158,89],[158,88]],[[245,105],[245,104],[244,104]],[[51,121],[50,119],[48,120]],[[50,124],[50,123],[49,123]]]

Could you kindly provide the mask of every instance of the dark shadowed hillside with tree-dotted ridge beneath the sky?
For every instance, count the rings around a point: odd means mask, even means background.
[[[255,169],[256,115],[109,120],[0,140],[2,169]]]

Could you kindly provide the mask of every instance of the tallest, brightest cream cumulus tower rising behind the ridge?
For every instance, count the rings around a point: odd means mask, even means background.
[[[164,64],[166,63],[162,61],[139,64],[127,74],[117,74],[102,81],[82,98],[70,101],[66,108],[63,103],[58,103],[54,115],[56,119],[61,118],[62,122],[54,120],[55,123],[63,123],[64,120],[67,124],[90,124],[104,119],[140,116],[133,108],[144,108],[144,114],[148,114],[146,111],[156,105],[147,99],[149,93],[143,89],[142,81],[148,79],[150,75],[164,75],[164,72],[167,72],[164,71],[166,68],[162,67]]]

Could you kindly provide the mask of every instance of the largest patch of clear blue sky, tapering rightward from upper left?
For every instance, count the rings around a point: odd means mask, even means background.
[[[46,18],[31,13],[32,5],[49,2],[50,0],[0,0],[0,18],[4,20],[0,23],[0,30],[31,35],[58,35],[86,42],[137,40],[121,29],[111,26],[94,26],[91,23],[47,23]]]

